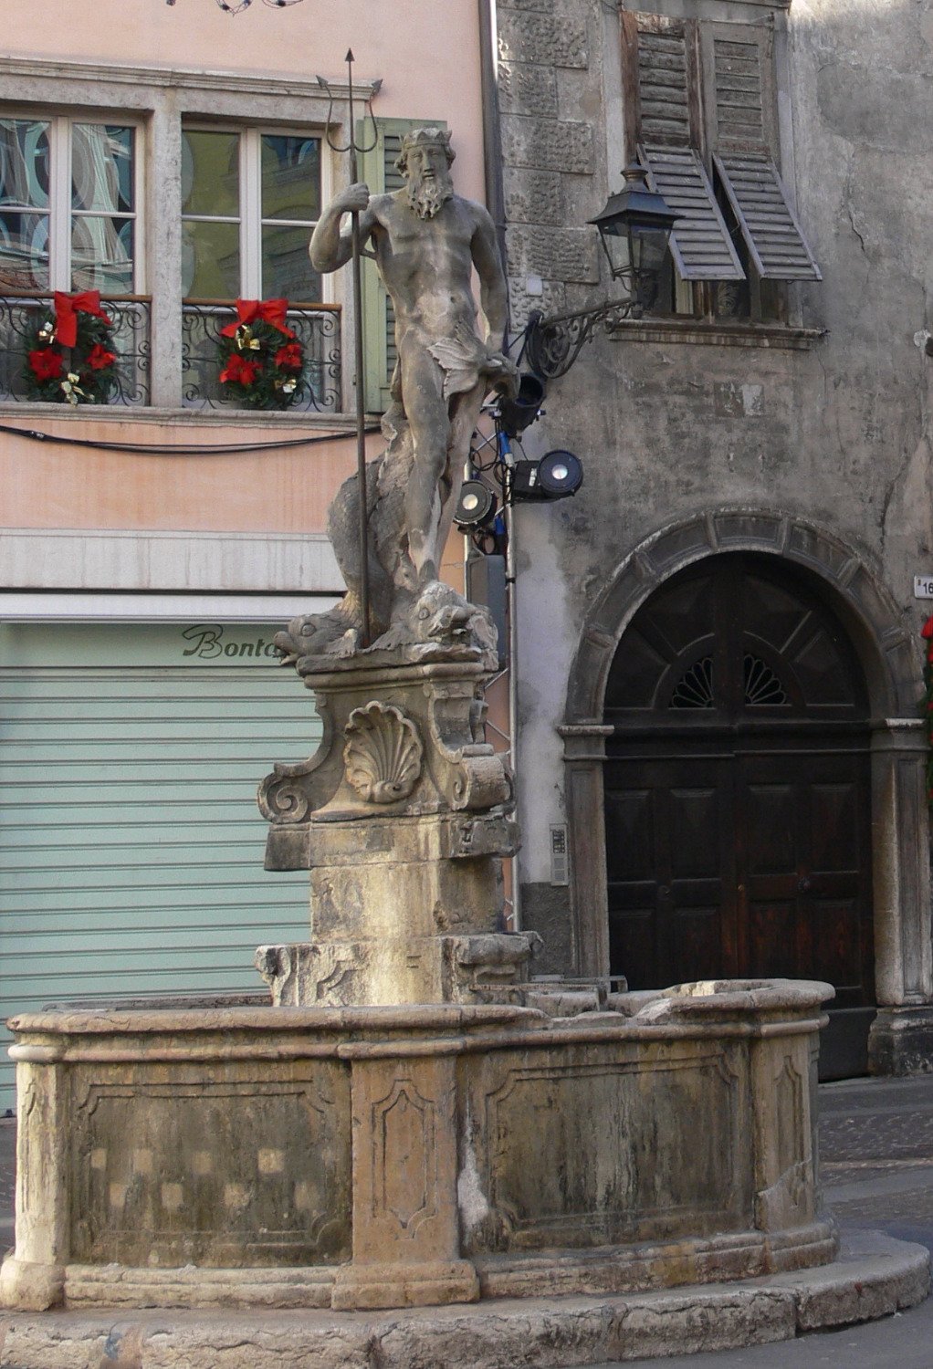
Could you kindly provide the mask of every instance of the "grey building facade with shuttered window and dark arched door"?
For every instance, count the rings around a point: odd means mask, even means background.
[[[585,482],[515,511],[522,923],[633,987],[830,979],[830,1072],[933,1046],[932,41],[926,4],[499,4],[514,327],[607,296],[627,162],[693,220],[526,434]]]

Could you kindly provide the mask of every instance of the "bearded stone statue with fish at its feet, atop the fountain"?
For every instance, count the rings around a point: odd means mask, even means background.
[[[359,214],[360,241],[371,248],[393,305],[399,361],[382,419],[388,446],[367,467],[366,482],[371,650],[410,656],[490,653],[488,616],[441,583],[438,567],[482,402],[493,389],[514,392],[517,381],[500,350],[507,293],[496,230],[481,204],[453,193],[452,163],[449,133],[412,130],[396,163],[404,186],[380,196],[362,183],[348,186],[321,215],[310,246],[316,271],[338,270],[352,253],[343,219]],[[485,337],[477,331],[474,267]],[[348,594],[332,613],[296,619],[279,634],[290,660],[359,648],[356,500],[353,475],[329,515]]]

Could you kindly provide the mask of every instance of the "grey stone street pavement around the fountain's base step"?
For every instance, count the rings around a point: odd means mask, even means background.
[[[840,1225],[933,1250],[933,1076],[822,1084],[821,1172]],[[0,1118],[0,1246],[12,1243],[15,1124]],[[629,1361],[626,1369],[933,1369],[933,1298],[844,1331],[721,1354]],[[593,1365],[589,1369],[622,1369]]]

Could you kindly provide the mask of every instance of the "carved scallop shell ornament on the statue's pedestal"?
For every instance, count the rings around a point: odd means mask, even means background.
[[[423,747],[404,713],[392,704],[355,708],[344,728],[347,782],[369,804],[408,798],[421,775]]]

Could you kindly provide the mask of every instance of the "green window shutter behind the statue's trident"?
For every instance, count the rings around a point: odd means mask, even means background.
[[[400,190],[404,178],[396,170],[396,157],[401,152],[401,140],[411,129],[447,125],[438,119],[377,119],[377,140],[371,152],[360,159],[360,174],[371,194],[389,194]],[[360,126],[360,141],[371,140],[373,126],[366,120]],[[384,413],[389,407],[389,385],[397,360],[395,349],[395,314],[392,300],[380,281],[374,261],[363,261],[363,382],[366,387],[366,408],[371,413]]]

